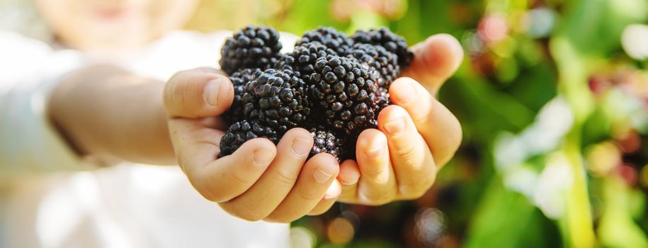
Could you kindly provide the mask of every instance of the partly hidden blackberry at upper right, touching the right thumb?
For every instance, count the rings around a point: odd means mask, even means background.
[[[388,28],[371,29],[368,31],[358,30],[351,35],[356,43],[381,45],[387,51],[394,52],[398,56],[398,64],[402,68],[409,67],[414,54],[407,48],[407,41],[399,35],[392,33]]]

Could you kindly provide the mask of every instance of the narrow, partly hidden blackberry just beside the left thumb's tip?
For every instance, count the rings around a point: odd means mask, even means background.
[[[254,74],[258,71],[259,69],[242,69],[229,76],[229,81],[232,81],[232,86],[234,86],[234,99],[232,100],[232,105],[222,115],[229,123],[244,119],[243,95],[245,94],[245,84],[252,81]]]

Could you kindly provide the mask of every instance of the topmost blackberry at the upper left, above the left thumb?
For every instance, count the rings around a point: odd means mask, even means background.
[[[233,74],[245,68],[270,68],[279,59],[279,33],[271,27],[246,26],[227,38],[220,51],[220,68]]]

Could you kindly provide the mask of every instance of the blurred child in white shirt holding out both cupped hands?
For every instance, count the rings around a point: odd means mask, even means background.
[[[457,149],[459,123],[433,93],[462,51],[436,35],[406,73],[421,84],[394,81],[398,106],[360,135],[357,161],[307,160],[300,128],[215,159],[233,89],[206,67],[229,34],[173,31],[195,5],[36,0],[52,43],[0,33],[0,247],[287,247],[288,225],[272,222],[419,197]]]

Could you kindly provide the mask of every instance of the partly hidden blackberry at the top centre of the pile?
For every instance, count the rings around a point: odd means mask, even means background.
[[[342,33],[335,28],[319,27],[315,30],[310,30],[302,35],[300,40],[297,40],[295,45],[302,45],[304,43],[318,42],[331,48],[339,55],[346,54],[346,52],[353,46],[353,40],[348,38],[345,33]]]

